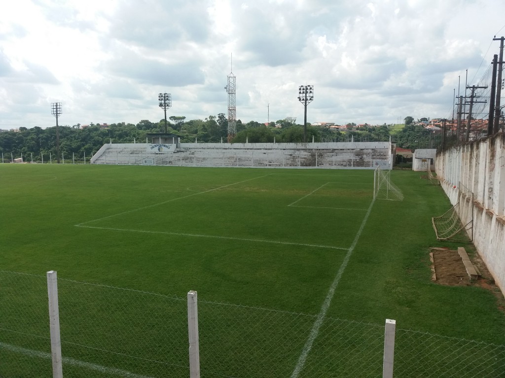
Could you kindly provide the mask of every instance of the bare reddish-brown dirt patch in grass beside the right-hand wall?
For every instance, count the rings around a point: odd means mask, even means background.
[[[473,254],[473,256],[469,254],[469,257],[472,264],[480,271],[482,277],[477,280],[470,280],[465,265],[458,254],[458,250],[430,248],[430,252],[433,254],[436,275],[435,283],[449,286],[480,286],[491,291],[496,296],[498,308],[505,312],[505,298],[500,289],[494,284],[494,279],[477,253]]]

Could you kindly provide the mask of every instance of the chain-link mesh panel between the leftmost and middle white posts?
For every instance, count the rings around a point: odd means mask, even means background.
[[[185,298],[64,279],[58,297],[64,375],[188,376]]]

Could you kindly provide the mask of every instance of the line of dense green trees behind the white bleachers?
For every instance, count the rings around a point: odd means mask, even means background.
[[[237,134],[232,143],[300,143],[303,141],[304,128],[295,123],[296,118],[286,117],[276,122],[268,124],[257,121],[242,123],[236,122]],[[357,127],[349,123],[347,129],[339,131],[324,126],[307,126],[307,140],[312,142],[372,142],[389,141],[391,125]],[[112,123],[100,125],[90,122],[82,128],[79,123],[75,125],[64,125],[59,127],[60,154],[65,159],[76,157],[92,156],[100,147],[109,143],[145,143],[148,133],[164,133],[165,119],[158,122],[151,122],[147,119],[133,123]],[[226,141],[228,133],[228,120],[224,113],[217,116],[210,115],[205,119],[186,120],[184,116],[171,116],[167,122],[167,132],[176,134],[182,143],[220,143]],[[402,135],[403,131],[396,134],[398,141],[406,146],[412,146],[419,139],[412,131]],[[411,138],[414,135],[413,138]],[[402,147],[402,146],[400,146]],[[56,157],[56,127],[42,129],[34,127],[31,129],[21,127],[19,131],[9,131],[0,133],[0,152],[5,158],[10,158],[10,154],[19,157],[21,154],[34,161],[40,161],[40,155],[47,159],[49,154]]]

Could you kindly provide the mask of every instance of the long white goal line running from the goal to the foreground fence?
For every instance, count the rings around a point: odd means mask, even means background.
[[[296,378],[301,369],[304,368],[305,366],[305,361],[307,360],[307,356],[309,355],[312,345],[314,344],[314,341],[316,340],[316,337],[319,334],[319,329],[321,328],[324,317],[326,316],[326,312],[328,311],[328,308],[330,307],[331,300],[333,299],[333,296],[335,295],[335,289],[337,288],[337,285],[340,281],[340,278],[342,277],[342,274],[347,267],[347,264],[349,263],[350,256],[352,255],[352,251],[354,251],[354,248],[356,247],[356,244],[358,243],[358,239],[361,236],[361,233],[363,232],[363,229],[365,228],[365,224],[367,223],[368,217],[370,215],[370,212],[372,211],[372,207],[374,205],[375,200],[372,200],[372,203],[370,204],[370,207],[368,208],[367,214],[365,214],[365,218],[363,219],[363,222],[361,222],[360,229],[358,230],[358,233],[356,234],[356,237],[354,238],[354,241],[352,241],[352,244],[350,248],[347,250],[347,254],[345,255],[344,261],[342,262],[342,265],[340,265],[340,268],[338,269],[337,275],[335,276],[335,279],[333,280],[330,289],[328,290],[328,293],[326,294],[326,298],[324,299],[323,305],[319,311],[319,314],[316,318],[316,322],[314,322],[314,325],[312,326],[311,333],[309,335],[309,338],[307,339],[307,342],[305,343],[304,349],[301,351],[300,357],[298,358],[298,362],[296,363],[296,366],[291,374],[291,378]]]

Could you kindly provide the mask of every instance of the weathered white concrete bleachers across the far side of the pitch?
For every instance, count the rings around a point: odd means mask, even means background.
[[[149,144],[108,144],[93,158],[95,164],[267,168],[375,169],[381,162],[391,169],[389,142],[349,143],[181,143],[175,152],[153,153]]]

